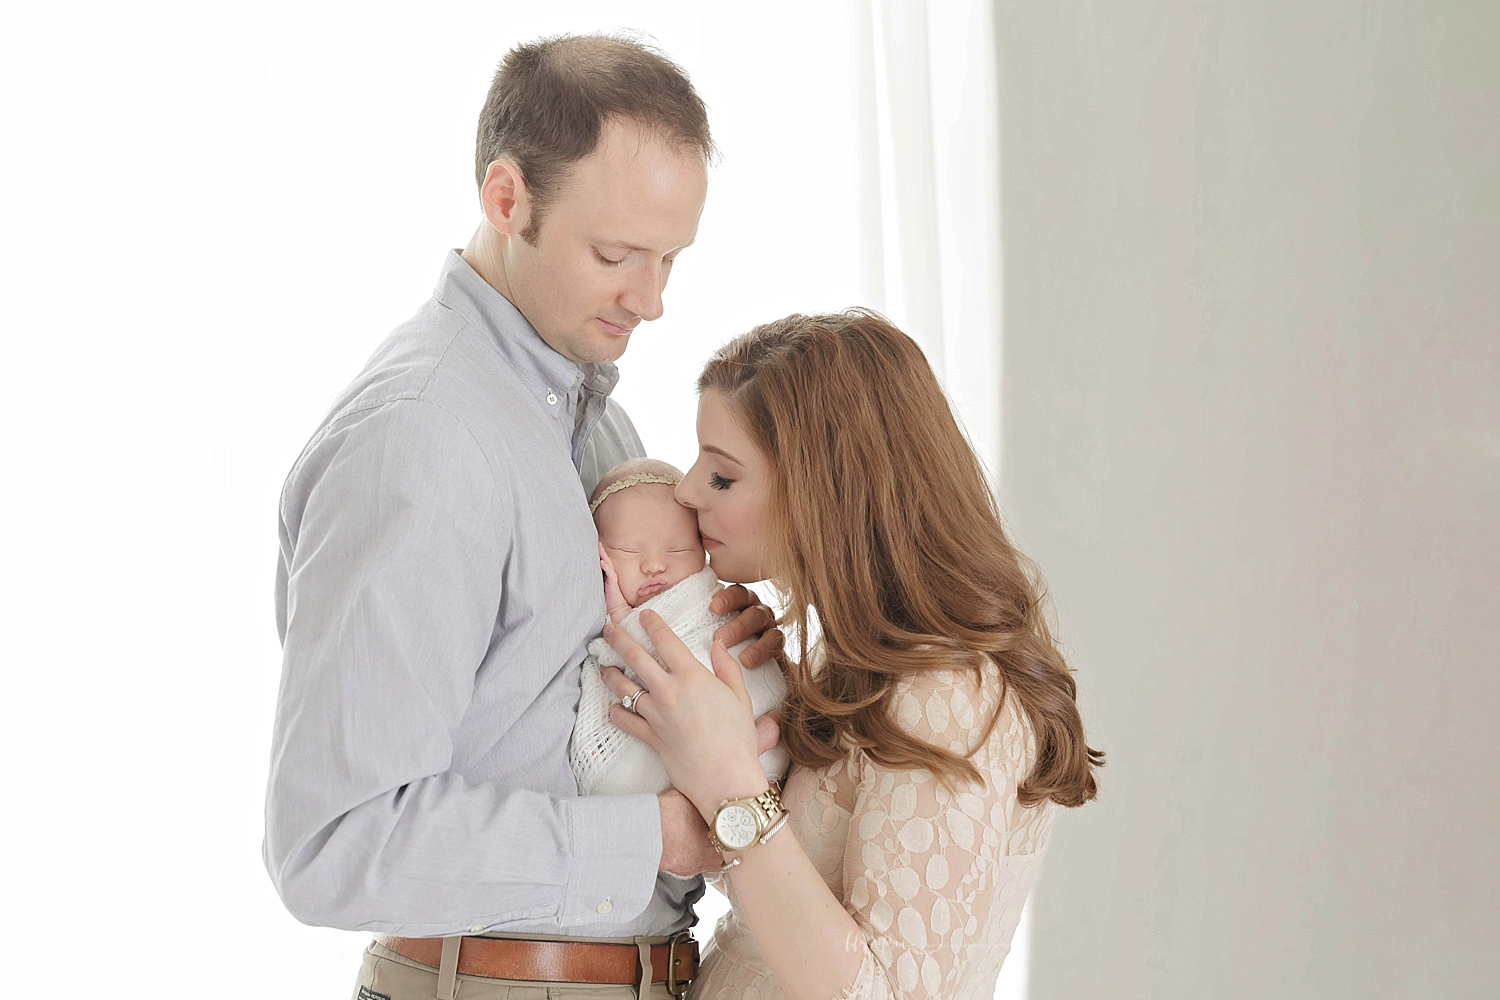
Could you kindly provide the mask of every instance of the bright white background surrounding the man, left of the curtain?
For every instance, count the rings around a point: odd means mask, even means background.
[[[714,346],[858,301],[846,21],[790,0],[6,10],[12,990],[348,996],[368,936],[298,925],[260,861],[286,469],[478,222],[500,57],[620,25],[688,69],[724,153],[620,390],[688,462]]]

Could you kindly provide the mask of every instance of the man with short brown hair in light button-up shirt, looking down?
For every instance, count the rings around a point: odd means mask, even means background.
[[[393,936],[358,997],[692,972],[668,939],[702,882],[669,873],[717,867],[700,817],[676,793],[576,798],[567,742],[604,621],[586,496],[642,454],[612,361],[662,315],[711,153],[656,51],[508,52],[480,117],[483,223],[288,475],[264,855],[298,919]],[[726,640],[770,625],[742,588],[718,600],[747,609]],[[766,631],[747,666],[778,646]]]

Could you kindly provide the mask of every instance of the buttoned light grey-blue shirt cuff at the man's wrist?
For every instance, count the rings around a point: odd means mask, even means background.
[[[654,795],[585,795],[562,801],[568,874],[560,922],[627,924],[656,892],[662,807]]]

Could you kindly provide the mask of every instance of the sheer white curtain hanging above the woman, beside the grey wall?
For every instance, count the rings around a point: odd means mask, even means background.
[[[861,298],[910,333],[1000,468],[1000,136],[990,0],[850,0]]]

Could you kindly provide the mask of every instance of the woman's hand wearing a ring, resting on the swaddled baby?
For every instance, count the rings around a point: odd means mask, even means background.
[[[660,615],[642,613],[640,625],[668,666],[663,669],[624,628],[606,625],[604,639],[645,682],[634,712],[612,705],[610,721],[657,751],[672,786],[705,820],[723,799],[765,792],[750,694],[724,643],[714,640],[714,670],[708,672]],[[615,697],[642,687],[612,667],[603,679]]]

